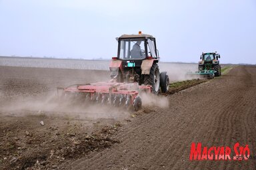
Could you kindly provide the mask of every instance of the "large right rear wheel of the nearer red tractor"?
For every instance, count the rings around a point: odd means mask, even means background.
[[[156,63],[151,66],[149,74],[144,75],[144,85],[151,85],[153,94],[158,94],[160,88],[160,74]]]

